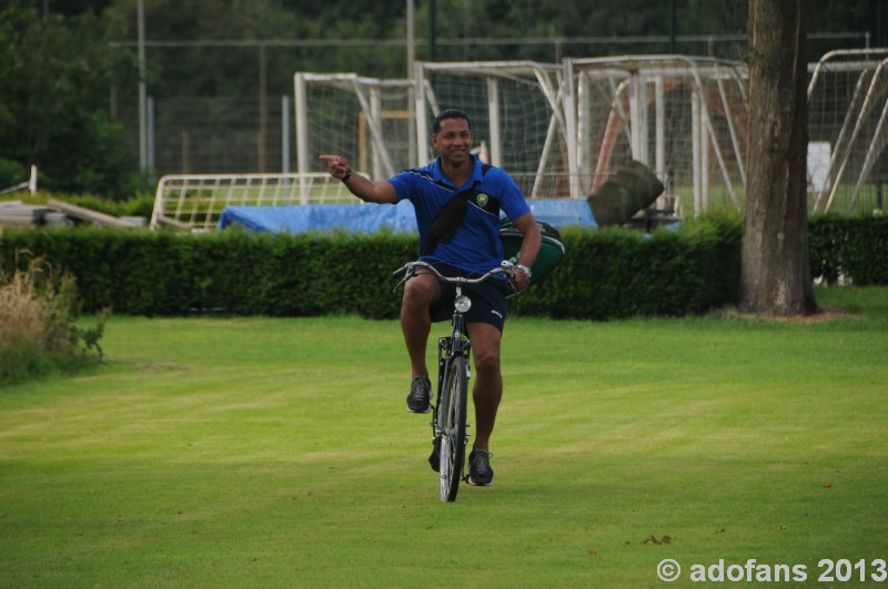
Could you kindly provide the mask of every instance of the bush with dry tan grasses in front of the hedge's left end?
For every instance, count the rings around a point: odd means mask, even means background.
[[[0,386],[101,359],[105,314],[93,328],[78,326],[74,278],[43,257],[11,274],[0,267]]]

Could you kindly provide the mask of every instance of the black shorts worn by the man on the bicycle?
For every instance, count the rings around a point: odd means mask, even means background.
[[[434,266],[445,276],[465,276],[467,278],[475,278],[478,276],[477,274],[465,272],[441,262],[435,262]],[[432,321],[448,321],[453,317],[456,287],[441,278],[437,280],[437,283],[441,285],[441,298],[430,308]],[[508,311],[508,303],[506,302],[506,295],[508,293],[508,284],[498,276],[492,276],[480,284],[466,284],[463,286],[463,294],[472,299],[472,307],[465,314],[466,324],[487,323],[502,333],[506,322],[506,312]]]

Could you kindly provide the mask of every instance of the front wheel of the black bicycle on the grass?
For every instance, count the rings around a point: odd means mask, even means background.
[[[465,412],[468,396],[466,359],[453,358],[441,399],[441,500],[455,501],[465,461]]]

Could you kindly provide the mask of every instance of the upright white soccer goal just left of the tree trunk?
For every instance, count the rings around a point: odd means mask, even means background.
[[[576,191],[632,160],[655,171],[684,214],[739,209],[745,194],[746,70],[685,55],[566,60]],[[672,206],[673,203],[660,203]]]

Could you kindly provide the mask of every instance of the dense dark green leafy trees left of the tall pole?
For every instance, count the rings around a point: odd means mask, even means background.
[[[43,18],[33,4],[0,4],[0,187],[37,164],[48,189],[131,194],[138,172],[109,111],[131,57],[108,50],[95,13]]]

